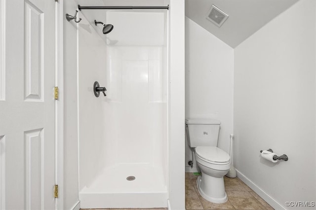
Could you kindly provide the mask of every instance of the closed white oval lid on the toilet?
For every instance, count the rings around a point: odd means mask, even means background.
[[[216,146],[198,146],[196,148],[196,154],[212,162],[225,163],[230,161],[229,154]]]

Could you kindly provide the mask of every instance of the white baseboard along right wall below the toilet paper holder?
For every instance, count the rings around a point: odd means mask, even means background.
[[[267,193],[265,193],[260,187],[258,187],[255,183],[253,183],[249,178],[245,175],[241,174],[237,169],[237,177],[240,178],[245,184],[247,184],[255,193],[257,193],[263,200],[265,200],[270,206],[272,206],[276,210],[286,210],[282,205],[276,202],[275,199],[270,197]]]

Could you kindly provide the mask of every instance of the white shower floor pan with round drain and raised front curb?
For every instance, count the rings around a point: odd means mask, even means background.
[[[135,179],[127,180],[133,179],[129,176]],[[162,169],[149,164],[105,168],[79,192],[80,208],[165,208],[167,188],[163,179]]]

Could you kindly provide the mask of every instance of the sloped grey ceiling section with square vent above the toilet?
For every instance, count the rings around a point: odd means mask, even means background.
[[[185,0],[185,14],[235,48],[298,0]],[[219,28],[206,19],[214,4],[229,17]]]

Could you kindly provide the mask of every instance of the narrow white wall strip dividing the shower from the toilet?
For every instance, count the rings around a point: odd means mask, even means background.
[[[184,0],[170,0],[168,95],[168,209],[185,209]]]

